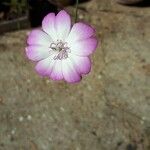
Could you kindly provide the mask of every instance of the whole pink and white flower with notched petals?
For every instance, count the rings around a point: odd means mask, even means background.
[[[26,55],[36,61],[35,70],[52,80],[79,82],[91,70],[89,55],[97,47],[95,30],[84,23],[71,28],[70,15],[61,10],[56,16],[49,13],[42,21],[42,29],[34,29],[28,36]]]

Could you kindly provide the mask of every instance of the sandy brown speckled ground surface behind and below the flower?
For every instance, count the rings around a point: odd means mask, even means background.
[[[79,84],[35,73],[29,30],[0,36],[0,150],[150,149],[149,8],[93,0],[79,14],[99,40]]]

